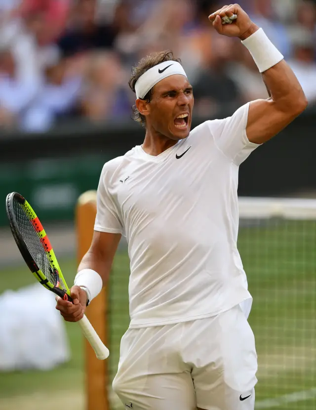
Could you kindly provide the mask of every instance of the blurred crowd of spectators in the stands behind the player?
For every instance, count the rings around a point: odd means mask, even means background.
[[[316,102],[316,1],[240,0]],[[129,118],[131,67],[165,49],[194,86],[195,113],[266,98],[250,54],[219,36],[219,0],[0,0],[0,127],[43,132],[55,124]]]

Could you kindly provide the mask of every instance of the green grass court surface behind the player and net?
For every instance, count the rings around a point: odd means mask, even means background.
[[[259,361],[256,409],[315,410],[316,222],[241,221],[238,248],[254,298],[249,322]],[[71,284],[76,261],[60,260],[60,265]],[[0,275],[0,293],[34,283],[23,264],[2,270]],[[127,253],[119,252],[109,292],[111,378],[118,364],[119,340],[129,322],[128,275]],[[83,340],[75,324],[66,324],[66,329],[72,349],[70,362],[46,372],[0,373],[0,409],[20,410],[19,397],[23,398],[24,410],[53,409],[48,405],[56,397],[64,397],[63,404],[67,400],[76,404],[78,400],[76,408],[84,409]],[[51,395],[46,394],[47,388]],[[46,406],[32,402],[32,397],[42,398]],[[114,401],[113,410],[118,409],[122,408]]]

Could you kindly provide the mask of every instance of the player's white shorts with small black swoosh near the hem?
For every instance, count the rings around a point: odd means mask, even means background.
[[[128,410],[253,410],[253,332],[239,305],[218,316],[128,329],[113,389]]]

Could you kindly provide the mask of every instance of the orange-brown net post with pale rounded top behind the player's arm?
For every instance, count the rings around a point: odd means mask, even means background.
[[[96,191],[80,195],[76,207],[78,262],[90,247],[96,215]],[[107,346],[107,296],[105,288],[86,309],[86,316]],[[86,410],[109,410],[107,360],[98,360],[85,340]]]

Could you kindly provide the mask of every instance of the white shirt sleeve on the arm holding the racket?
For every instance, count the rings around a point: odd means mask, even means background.
[[[103,167],[97,190],[97,214],[94,230],[122,234],[123,227],[119,220],[114,200],[108,191],[108,177],[106,165]]]

